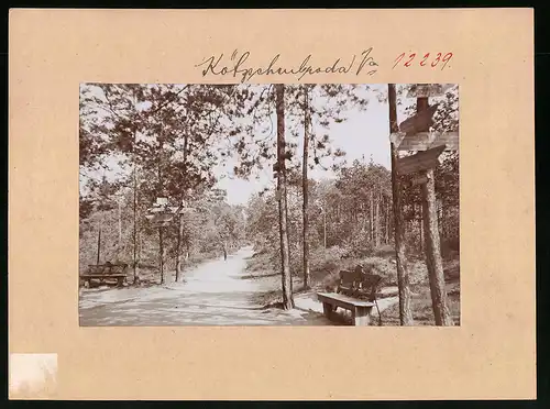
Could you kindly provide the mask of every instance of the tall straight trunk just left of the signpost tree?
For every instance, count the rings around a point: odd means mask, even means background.
[[[389,132],[398,132],[397,103],[395,84],[388,85],[389,102]],[[392,192],[394,201],[394,228],[395,228],[395,253],[397,263],[397,284],[399,287],[399,321],[402,325],[413,325],[413,312],[410,310],[410,286],[408,262],[405,254],[405,231],[403,226],[402,189],[396,172],[398,151],[394,143],[392,148]]]

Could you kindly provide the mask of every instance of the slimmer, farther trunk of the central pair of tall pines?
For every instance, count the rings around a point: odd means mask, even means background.
[[[304,219],[304,231],[301,235],[304,244],[304,289],[309,288],[309,214],[308,214],[308,159],[309,159],[309,89],[308,86],[304,86],[304,157],[301,164],[301,195],[304,198],[302,202],[302,219]]]

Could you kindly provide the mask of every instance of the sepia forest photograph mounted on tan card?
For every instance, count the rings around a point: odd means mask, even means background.
[[[459,180],[455,84],[80,84],[79,324],[460,325]]]

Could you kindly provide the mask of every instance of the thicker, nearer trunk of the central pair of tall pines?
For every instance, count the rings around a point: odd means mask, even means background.
[[[276,112],[277,112],[277,189],[279,191],[278,218],[280,239],[280,264],[283,281],[283,307],[294,308],[290,277],[290,256],[288,247],[288,220],[287,220],[287,195],[286,195],[286,163],[285,163],[285,86],[275,86]]]

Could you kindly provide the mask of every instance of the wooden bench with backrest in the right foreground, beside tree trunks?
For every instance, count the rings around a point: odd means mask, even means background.
[[[340,272],[337,292],[319,292],[324,316],[331,319],[338,307],[350,310],[354,325],[369,325],[373,307],[378,310],[378,323],[382,317],[376,302],[376,295],[382,277],[365,273],[362,266],[354,270]]]

